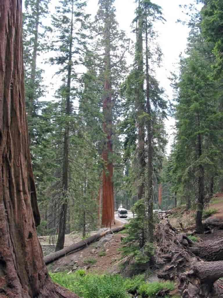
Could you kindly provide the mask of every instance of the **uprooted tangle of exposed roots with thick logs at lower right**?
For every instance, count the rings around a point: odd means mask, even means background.
[[[223,277],[223,239],[194,243],[166,219],[156,226],[154,236],[159,278],[179,281],[183,298],[221,297],[223,285],[218,280]]]

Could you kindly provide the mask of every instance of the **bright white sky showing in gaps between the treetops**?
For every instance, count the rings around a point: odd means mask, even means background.
[[[155,28],[158,31],[159,38],[158,44],[160,45],[162,52],[164,54],[162,67],[156,70],[157,80],[160,82],[161,87],[166,90],[166,95],[172,100],[172,88],[170,87],[170,82],[168,77],[170,72],[177,71],[177,63],[179,61],[179,55],[184,52],[187,44],[187,37],[189,34],[189,29],[187,26],[183,26],[176,23],[177,19],[185,19],[185,14],[182,13],[179,4],[189,4],[193,0],[153,0],[154,3],[162,7],[162,12],[164,18],[167,20],[165,24],[158,22],[155,24]],[[50,11],[54,11],[54,7],[58,4],[58,0],[52,0]],[[134,0],[116,0],[114,2],[116,7],[117,21],[119,27],[125,30],[126,35],[134,40],[135,36],[131,33],[131,22],[134,19],[134,11],[136,9],[136,4]],[[98,10],[98,0],[88,0],[88,5],[86,12],[95,16]],[[55,73],[55,69],[52,66],[47,66],[45,69],[46,80],[54,83],[49,89],[48,99],[53,96],[54,90],[58,88],[59,79],[51,79],[52,74]],[[47,82],[46,82],[47,84]],[[167,153],[170,151],[170,145],[172,142],[171,126],[174,124],[174,120],[169,118],[166,121],[167,133],[169,134],[169,145],[167,148]]]

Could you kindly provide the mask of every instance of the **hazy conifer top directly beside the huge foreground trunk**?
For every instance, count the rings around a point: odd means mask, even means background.
[[[25,66],[26,108],[31,146],[37,142],[39,112],[44,102],[39,99],[45,94],[43,69],[37,65],[38,57],[48,49],[46,34],[51,28],[44,25],[49,14],[50,0],[26,0],[23,13],[23,46]],[[32,147],[31,147],[32,150]]]

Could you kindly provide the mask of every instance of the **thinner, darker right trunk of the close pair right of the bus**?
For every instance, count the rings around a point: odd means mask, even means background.
[[[150,105],[150,76],[149,76],[149,50],[146,13],[146,107],[147,107],[147,208],[148,208],[148,235],[147,240],[153,242],[153,148],[152,148],[152,115]]]

